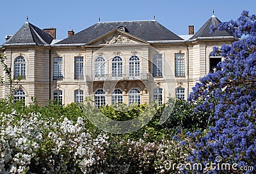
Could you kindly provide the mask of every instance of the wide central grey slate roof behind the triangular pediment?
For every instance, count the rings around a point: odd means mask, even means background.
[[[164,41],[164,40],[183,40],[177,34],[166,29],[163,25],[156,22],[156,20],[141,20],[141,21],[123,21],[123,22],[98,22],[97,24],[80,31],[79,33],[61,40],[57,44],[77,44],[88,43],[103,34],[124,27],[125,32],[140,38],[145,41]]]

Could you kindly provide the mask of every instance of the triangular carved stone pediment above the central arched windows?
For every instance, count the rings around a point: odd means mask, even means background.
[[[120,29],[109,31],[99,38],[90,41],[86,46],[107,46],[107,45],[149,45],[147,41],[136,38]]]

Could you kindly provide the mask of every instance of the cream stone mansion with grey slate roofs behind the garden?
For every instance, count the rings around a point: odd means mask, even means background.
[[[113,103],[159,104],[173,98],[186,99],[198,80],[215,70],[221,55],[212,47],[236,40],[227,31],[209,33],[220,24],[212,15],[194,33],[177,35],[156,20],[97,22],[68,37],[56,40],[56,29],[40,29],[25,22],[6,36],[1,52],[12,69],[14,100],[26,104],[37,99],[45,105],[58,100],[63,105],[83,102],[93,96],[96,106]],[[0,68],[0,76],[4,76]],[[8,79],[0,86],[0,98],[10,95]]]

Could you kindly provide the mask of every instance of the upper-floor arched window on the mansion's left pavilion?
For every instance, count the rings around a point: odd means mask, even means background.
[[[26,79],[26,60],[22,56],[16,57],[14,60],[14,78],[17,79],[19,76]]]

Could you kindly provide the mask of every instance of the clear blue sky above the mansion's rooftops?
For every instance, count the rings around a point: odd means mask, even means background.
[[[197,31],[212,15],[222,22],[236,20],[243,10],[256,14],[255,0],[4,0],[1,1],[0,45],[7,34],[15,34],[29,17],[29,22],[44,29],[57,29],[57,39],[67,38],[96,22],[156,20],[175,34],[188,34],[188,25]]]

